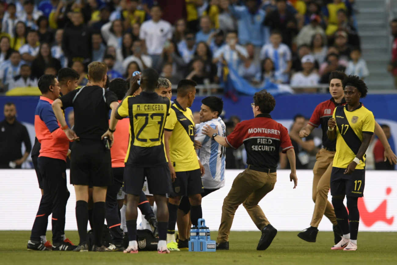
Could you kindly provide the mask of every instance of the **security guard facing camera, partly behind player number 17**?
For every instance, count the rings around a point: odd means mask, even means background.
[[[328,201],[328,191],[330,190],[330,179],[333,157],[336,151],[336,139],[330,140],[327,136],[328,120],[332,117],[333,110],[339,105],[345,105],[344,91],[342,87],[342,80],[346,75],[343,72],[333,71],[330,74],[330,94],[331,99],[321,102],[314,109],[312,117],[308,125],[303,127],[299,132],[301,138],[307,137],[314,128],[321,125],[322,129],[322,144],[323,148],[318,151],[316,155],[316,164],[313,168],[313,190],[312,199],[314,201],[314,212],[310,227],[298,234],[299,238],[307,242],[316,242],[318,233],[318,225],[323,217],[327,216],[333,224],[334,242],[337,244],[342,236],[342,232],[337,226],[335,212],[333,206]],[[390,164],[396,164],[396,156],[390,148],[387,138],[378,123],[375,123],[375,134],[379,137],[382,144],[385,146],[385,161],[386,158]]]

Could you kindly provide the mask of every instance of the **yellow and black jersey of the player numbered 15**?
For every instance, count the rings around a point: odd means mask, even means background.
[[[167,117],[166,131],[172,131],[170,138],[170,158],[176,172],[200,168],[194,147],[195,123],[189,108],[183,109],[175,100],[171,114]]]

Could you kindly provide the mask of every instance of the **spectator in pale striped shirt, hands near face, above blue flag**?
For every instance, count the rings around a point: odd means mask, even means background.
[[[225,60],[228,66],[237,70],[247,57],[247,50],[238,44],[237,33],[232,31],[227,33],[226,44],[216,51],[212,62],[216,64]]]

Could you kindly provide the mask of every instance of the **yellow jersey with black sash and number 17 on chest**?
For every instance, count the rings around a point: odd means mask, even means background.
[[[374,134],[374,114],[361,103],[353,111],[347,110],[347,105],[337,106],[332,117],[336,120],[336,153],[333,166],[347,168],[356,157],[362,143],[362,134]],[[356,169],[365,168],[365,155]]]

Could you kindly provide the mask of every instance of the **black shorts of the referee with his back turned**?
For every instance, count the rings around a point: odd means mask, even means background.
[[[107,187],[113,184],[110,150],[106,150],[102,141],[82,140],[73,143],[70,183],[95,187]]]

